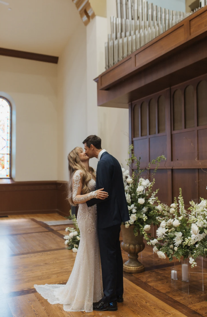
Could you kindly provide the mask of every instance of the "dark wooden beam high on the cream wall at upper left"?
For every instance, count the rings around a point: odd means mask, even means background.
[[[0,48],[0,55],[29,59],[29,60],[33,60],[33,61],[44,61],[47,63],[58,64],[58,57],[57,56],[23,52],[23,51],[17,51],[15,49],[3,49],[1,47]]]

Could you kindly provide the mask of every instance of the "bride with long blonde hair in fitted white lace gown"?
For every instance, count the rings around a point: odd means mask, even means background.
[[[97,235],[96,205],[88,207],[92,198],[105,199],[108,193],[103,188],[95,189],[95,171],[89,167],[89,157],[81,147],[68,154],[69,202],[80,204],[77,222],[80,229],[80,244],[72,273],[66,285],[34,285],[37,292],[50,304],[63,304],[65,311],[93,311],[93,302],[103,297],[99,244]]]

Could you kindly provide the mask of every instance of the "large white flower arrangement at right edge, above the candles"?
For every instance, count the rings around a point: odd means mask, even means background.
[[[178,203],[175,198],[170,207],[159,204],[157,210],[160,223],[157,238],[152,238],[148,244],[161,259],[166,255],[170,261],[173,257],[179,261],[181,257],[189,258],[192,267],[196,266],[198,256],[207,256],[207,200],[201,198],[200,204],[191,201],[190,208],[185,210],[180,189]]]

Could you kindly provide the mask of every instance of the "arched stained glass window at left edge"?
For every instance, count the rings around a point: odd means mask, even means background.
[[[0,97],[0,178],[10,177],[11,108]]]

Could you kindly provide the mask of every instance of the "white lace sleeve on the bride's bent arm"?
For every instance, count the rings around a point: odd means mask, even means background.
[[[74,201],[74,203],[83,204],[86,201],[97,197],[96,191],[91,191],[90,193],[88,193],[86,195],[77,195],[79,187],[80,187],[80,183],[81,183],[81,171],[78,170],[75,172],[75,174],[73,176],[73,201]]]

